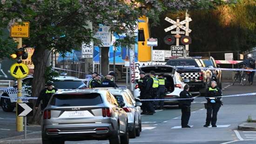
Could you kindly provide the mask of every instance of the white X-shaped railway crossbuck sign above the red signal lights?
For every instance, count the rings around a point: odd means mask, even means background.
[[[169,27],[167,27],[167,28],[164,29],[164,31],[165,31],[166,33],[169,32],[169,31],[171,31],[171,30],[173,30],[173,29],[175,29],[175,28],[176,28],[176,31],[172,31],[171,33],[174,33],[174,34],[185,34],[185,32],[180,32],[180,28],[183,29],[184,31],[188,31],[189,33],[191,33],[191,31],[192,31],[192,30],[189,29],[189,28],[187,29],[186,26],[182,26],[182,25],[186,24],[186,22],[192,21],[191,18],[189,18],[188,21],[187,21],[187,20],[182,20],[181,22],[176,22],[176,21],[174,21],[174,20],[172,20],[172,19],[170,19],[170,18],[168,18],[168,17],[165,17],[164,20],[166,20],[166,21],[168,21],[169,23],[173,24],[173,26],[169,26]]]

